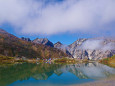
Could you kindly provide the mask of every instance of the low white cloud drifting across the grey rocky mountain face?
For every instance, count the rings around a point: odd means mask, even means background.
[[[114,50],[115,43],[114,42],[104,42],[102,39],[88,39],[85,41],[79,48],[85,50]]]

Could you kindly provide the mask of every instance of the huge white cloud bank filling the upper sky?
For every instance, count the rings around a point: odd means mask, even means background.
[[[104,27],[115,22],[115,0],[45,1],[0,0],[0,24],[8,22],[24,34],[114,30]]]

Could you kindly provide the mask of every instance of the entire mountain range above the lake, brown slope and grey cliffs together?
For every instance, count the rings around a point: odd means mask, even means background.
[[[99,60],[115,54],[115,39],[91,38],[78,39],[70,45],[61,42],[53,44],[46,38],[21,39],[0,29],[0,54],[28,58],[60,58]]]

